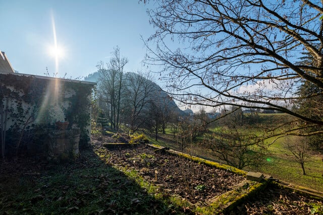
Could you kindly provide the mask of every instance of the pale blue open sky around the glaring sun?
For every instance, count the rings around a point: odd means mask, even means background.
[[[137,0],[0,0],[0,50],[19,73],[45,76],[47,67],[49,76],[82,79],[119,46],[126,71],[142,70],[140,36],[154,30],[146,9]]]

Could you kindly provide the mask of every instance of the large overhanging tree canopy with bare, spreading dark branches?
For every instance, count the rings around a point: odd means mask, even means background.
[[[290,108],[323,89],[321,1],[160,0],[148,10],[156,31],[147,63],[164,65],[186,104],[273,109],[307,124],[321,117]],[[176,41],[182,42],[176,47]],[[152,46],[156,45],[156,46]],[[302,53],[312,62],[299,63]],[[304,81],[320,89],[297,94]]]

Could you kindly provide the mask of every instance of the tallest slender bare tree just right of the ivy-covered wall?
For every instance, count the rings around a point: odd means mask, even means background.
[[[100,73],[98,94],[105,102],[111,128],[117,130],[120,124],[120,101],[124,67],[127,63],[128,59],[120,56],[120,48],[117,46],[114,48],[110,62],[106,63],[106,66],[102,61],[97,64],[97,69]]]

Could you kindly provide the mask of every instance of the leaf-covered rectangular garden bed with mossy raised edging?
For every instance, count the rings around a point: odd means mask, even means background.
[[[161,189],[192,203],[205,202],[241,183],[244,177],[169,153],[155,153],[147,145],[107,151],[112,165],[132,167]]]

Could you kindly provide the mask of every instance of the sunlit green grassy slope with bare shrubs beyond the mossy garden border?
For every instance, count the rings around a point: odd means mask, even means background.
[[[248,120],[248,117],[252,115],[252,120]],[[253,165],[245,166],[243,169],[247,171],[263,172],[270,174],[275,178],[278,178],[283,181],[288,181],[290,183],[295,183],[301,186],[309,187],[319,191],[323,191],[321,183],[323,180],[323,167],[322,167],[322,158],[323,156],[315,152],[313,148],[307,148],[302,152],[305,153],[305,173],[301,168],[301,164],[296,162],[296,157],[289,150],[290,146],[297,145],[298,140],[305,141],[307,137],[302,137],[299,139],[297,136],[280,136],[279,138],[273,136],[270,138],[263,138],[263,133],[265,131],[272,131],[273,128],[276,128],[276,122],[284,122],[285,118],[288,118],[287,114],[260,114],[260,113],[248,113],[244,114],[244,123],[242,126],[236,128],[225,126],[225,122],[230,122],[229,119],[221,118],[220,121],[216,121],[215,124],[210,125],[208,131],[204,133],[201,137],[193,141],[193,155],[206,158],[209,160],[229,164],[226,159],[231,163],[230,165],[239,166],[239,159],[243,161],[253,161]],[[221,122],[222,121],[222,122]],[[287,121],[287,120],[286,120]],[[160,134],[160,140],[153,140],[158,145],[164,147],[169,147],[182,151],[180,145],[177,144],[176,138],[174,138],[174,133],[172,132],[170,124],[170,129],[167,129],[166,134]],[[288,126],[288,124],[286,124]],[[237,132],[235,131],[237,129]],[[284,127],[278,127],[277,132],[285,129]],[[236,134],[236,135],[235,135]],[[240,135],[239,135],[240,134]],[[176,135],[175,135],[176,136]],[[256,136],[256,138],[253,138]],[[234,138],[237,138],[236,140]],[[226,142],[226,138],[232,142],[232,146],[228,146],[227,151],[215,152],[216,146],[214,146],[215,141],[219,141],[218,144],[229,144]],[[250,139],[248,139],[250,138]],[[211,141],[210,141],[211,140]],[[244,140],[244,145],[239,145],[239,141]],[[257,142],[258,140],[259,142]],[[213,143],[213,145],[210,145]],[[304,142],[303,142],[304,143]],[[221,147],[220,145],[218,147]],[[224,147],[223,146],[223,147]],[[239,148],[246,150],[245,154],[239,154]],[[297,147],[292,147],[293,151],[297,151]],[[302,149],[302,148],[299,148]],[[251,153],[249,153],[249,150]],[[255,152],[253,150],[256,150]],[[257,150],[261,150],[257,153]],[[184,149],[184,152],[190,153],[191,146],[188,146]],[[238,153],[235,155],[234,153]],[[299,152],[298,152],[299,154]],[[224,157],[224,156],[228,157]],[[232,157],[230,157],[232,156]],[[225,159],[223,159],[223,157]],[[301,160],[300,160],[301,161]],[[237,162],[237,163],[234,163]]]

